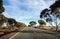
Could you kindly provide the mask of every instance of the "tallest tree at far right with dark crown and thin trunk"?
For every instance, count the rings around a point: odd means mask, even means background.
[[[58,30],[57,18],[60,18],[60,0],[57,0],[54,4],[50,6],[51,14],[56,17],[56,31]]]

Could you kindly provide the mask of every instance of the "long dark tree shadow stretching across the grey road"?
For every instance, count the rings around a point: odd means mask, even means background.
[[[53,36],[56,36],[58,38],[60,38],[60,35],[58,33],[55,33],[55,32],[45,32],[45,31],[33,31],[33,30],[23,30],[23,31],[19,31],[20,33],[45,33],[45,34],[50,34],[50,35],[53,35]]]

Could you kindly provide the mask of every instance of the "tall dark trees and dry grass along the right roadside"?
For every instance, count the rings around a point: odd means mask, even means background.
[[[38,23],[37,28],[39,29],[60,32],[60,0],[40,12]],[[48,26],[46,26],[47,23],[49,24]]]

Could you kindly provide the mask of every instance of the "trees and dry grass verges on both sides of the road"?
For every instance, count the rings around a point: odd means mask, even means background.
[[[3,0],[0,0],[0,33],[21,30],[27,26],[25,23],[18,22],[14,18],[7,18],[6,16],[3,15],[4,11],[5,8],[3,7]],[[40,12],[40,19],[37,21],[39,25],[36,25],[37,22],[35,21],[30,21],[28,27],[60,32],[59,21],[60,21],[60,0],[56,1],[49,8],[43,9]],[[48,26],[46,26],[47,23],[49,23]],[[6,24],[6,26],[4,26],[4,24]]]

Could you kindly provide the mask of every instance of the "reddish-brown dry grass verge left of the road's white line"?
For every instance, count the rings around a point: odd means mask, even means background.
[[[20,27],[18,30],[22,30],[24,27]],[[0,29],[0,39],[9,39],[12,35],[14,35],[17,32],[12,32],[13,30],[9,29]]]

